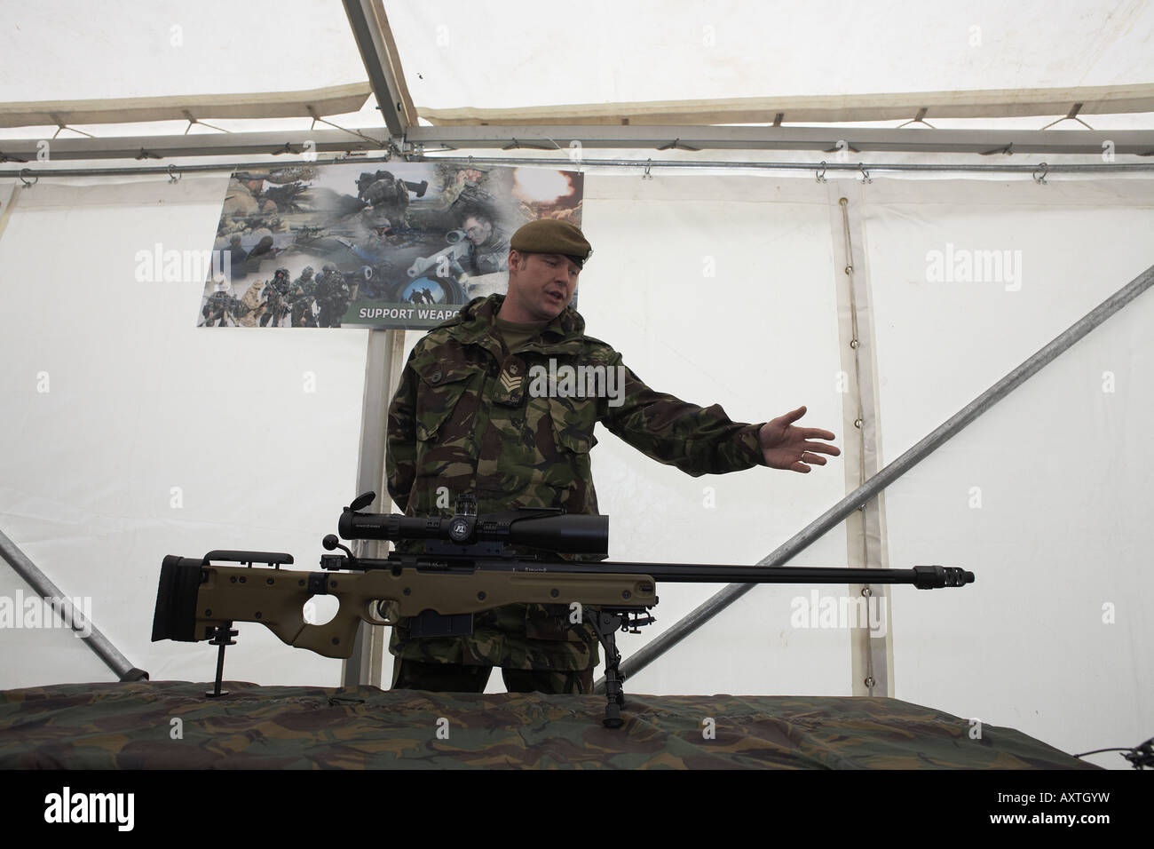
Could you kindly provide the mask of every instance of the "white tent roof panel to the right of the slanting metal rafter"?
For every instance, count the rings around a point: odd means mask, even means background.
[[[1154,82],[1148,0],[384,7],[418,109]]]

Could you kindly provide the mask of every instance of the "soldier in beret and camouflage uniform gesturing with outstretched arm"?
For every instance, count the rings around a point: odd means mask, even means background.
[[[741,424],[717,404],[650,389],[610,345],[585,335],[568,306],[590,253],[572,224],[526,224],[511,239],[508,295],[473,299],[417,343],[389,408],[385,454],[389,494],[406,515],[451,515],[469,492],[480,515],[516,507],[597,513],[590,450],[598,422],[695,476],[759,464],[808,472],[805,463],[825,464],[820,454],[840,453],[807,441],[833,439],[829,431],[792,424],[804,408]],[[542,394],[526,378],[550,358],[602,366],[623,378],[623,390]],[[569,612],[568,604],[508,605],[475,615],[472,635],[451,638],[413,639],[400,619],[389,646],[394,687],[482,692],[501,666],[510,692],[589,693],[598,642],[587,623],[570,625]]]

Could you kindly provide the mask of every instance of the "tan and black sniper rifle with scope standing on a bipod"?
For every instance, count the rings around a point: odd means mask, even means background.
[[[617,631],[654,621],[657,582],[692,583],[912,583],[919,589],[961,587],[974,573],[952,566],[911,569],[832,568],[816,566],[715,566],[703,564],[565,560],[561,553],[605,558],[609,517],[567,515],[560,508],[520,508],[477,515],[472,496],[457,500],[451,517],[427,519],[361,512],[376,494],[366,492],[338,522],[344,539],[419,541],[424,551],[392,551],[387,558],[358,557],[332,534],[322,544],[320,572],[283,571],[291,554],[262,551],[210,551],[203,558],[170,554],[160,567],[152,640],[218,646],[216,686],[220,690],[224,649],[235,643],[233,623],[264,625],[290,646],[325,657],[350,657],[361,621],[397,625],[407,617],[413,638],[470,634],[473,615],[504,604],[568,604],[590,621],[605,648],[604,723],[622,724],[624,706],[616,648]],[[525,553],[525,550],[540,553]],[[219,563],[240,563],[223,566]],[[271,568],[254,568],[264,564]],[[314,595],[332,595],[339,610],[332,620],[313,625],[304,606]]]

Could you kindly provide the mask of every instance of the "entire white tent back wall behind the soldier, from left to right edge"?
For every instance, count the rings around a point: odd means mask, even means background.
[[[92,596],[97,626],[153,679],[203,680],[215,657],[207,646],[148,641],[160,559],[249,548],[313,560],[355,479],[365,332],[193,327],[202,282],[135,283],[135,255],[157,243],[203,250],[225,178],[93,183],[18,189],[0,238],[9,399],[0,528],[67,595]],[[859,273],[876,316],[883,463],[1149,263],[1142,199],[1152,193],[1139,183],[841,185],[867,236]],[[587,332],[659,390],[747,422],[804,403],[802,423],[845,445],[856,434],[842,426],[848,402],[837,382],[835,194],[764,174],[589,174]],[[1021,289],[931,284],[926,254],[946,243],[1022,250]],[[1151,641],[1137,611],[1149,606],[1149,587],[1137,569],[1148,523],[1138,483],[1151,448],[1130,423],[1151,411],[1140,387],[1149,298],[886,493],[890,566],[942,563],[979,576],[957,590],[890,594],[898,698],[1012,724],[1067,751],[1145,738]],[[406,334],[406,348],[419,336]],[[1117,388],[1102,397],[1104,371]],[[42,372],[50,392],[37,390]],[[315,392],[305,390],[307,373]],[[847,487],[840,460],[804,477],[694,478],[601,429],[598,438],[594,476],[617,559],[754,563]],[[1074,459],[1070,446],[1087,447]],[[982,487],[981,509],[968,507],[972,486]],[[844,530],[793,563],[846,565]],[[17,589],[29,593],[0,571],[0,595]],[[623,635],[624,654],[715,589],[664,584],[658,625]],[[792,599],[808,590],[755,589],[627,692],[853,692],[848,632],[790,626]],[[1117,604],[1112,626],[1101,623],[1104,602]],[[1007,643],[1027,647],[1028,661]],[[2,630],[0,648],[3,687],[112,678],[62,631]],[[226,663],[227,677],[262,684],[334,685],[338,672],[338,662],[252,625]],[[489,690],[501,688],[495,675]]]

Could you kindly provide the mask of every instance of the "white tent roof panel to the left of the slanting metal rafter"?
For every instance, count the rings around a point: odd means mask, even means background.
[[[367,82],[339,0],[38,0],[0,28],[0,103]]]

